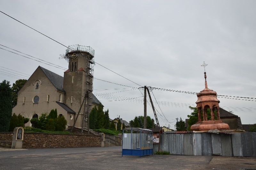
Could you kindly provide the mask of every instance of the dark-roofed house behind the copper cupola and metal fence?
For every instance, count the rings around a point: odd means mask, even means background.
[[[234,115],[231,112],[228,112],[227,110],[224,110],[220,107],[220,120],[224,123],[227,123],[230,127],[230,129],[240,129],[243,130],[242,122],[240,117],[237,115]],[[185,120],[185,127],[188,127],[188,119]]]

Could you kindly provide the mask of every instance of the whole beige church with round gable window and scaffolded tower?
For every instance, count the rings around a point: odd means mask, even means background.
[[[92,107],[103,107],[92,94],[94,50],[87,46],[68,46],[62,57],[68,61],[64,77],[38,66],[18,92],[12,113],[30,120],[56,108],[58,116],[64,116],[68,126],[73,126],[77,115],[75,126],[82,127],[83,120],[84,127],[87,126]],[[26,126],[31,126],[30,121]]]

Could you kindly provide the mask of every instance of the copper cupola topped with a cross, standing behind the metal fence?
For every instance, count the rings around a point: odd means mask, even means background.
[[[190,127],[193,131],[207,131],[211,129],[230,129],[227,123],[220,120],[220,100],[217,99],[217,92],[208,89],[206,72],[204,67],[205,89],[197,93],[196,107],[198,111],[198,122]],[[210,115],[207,114],[210,113]]]

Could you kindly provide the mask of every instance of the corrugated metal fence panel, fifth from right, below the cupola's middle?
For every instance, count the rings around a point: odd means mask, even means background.
[[[212,155],[212,135],[210,133],[202,134],[202,155]]]

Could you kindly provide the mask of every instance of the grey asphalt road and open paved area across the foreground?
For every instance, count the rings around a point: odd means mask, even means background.
[[[123,156],[122,147],[1,149],[0,169],[256,169],[256,158]]]

